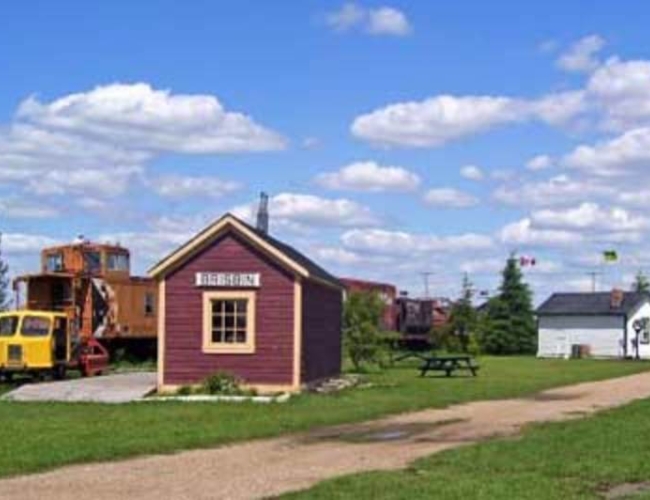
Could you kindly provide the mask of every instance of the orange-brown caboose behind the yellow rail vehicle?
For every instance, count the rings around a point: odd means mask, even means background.
[[[16,278],[23,306],[63,311],[82,338],[106,344],[139,341],[155,346],[157,286],[131,276],[129,250],[79,239],[41,252],[41,271]]]

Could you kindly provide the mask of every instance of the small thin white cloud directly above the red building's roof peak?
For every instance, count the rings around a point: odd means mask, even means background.
[[[165,175],[149,181],[153,190],[166,198],[220,198],[237,191],[240,184],[225,181],[217,177],[192,177],[183,175]]]

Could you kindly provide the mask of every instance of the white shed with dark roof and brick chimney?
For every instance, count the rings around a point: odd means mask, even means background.
[[[537,317],[539,357],[569,357],[579,344],[589,346],[594,357],[650,358],[648,294],[555,293]]]

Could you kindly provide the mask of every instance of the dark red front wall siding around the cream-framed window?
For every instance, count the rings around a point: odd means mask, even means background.
[[[257,290],[254,354],[202,352],[202,294],[197,272],[261,274]],[[225,370],[252,384],[290,385],[293,380],[294,277],[232,233],[222,236],[166,278],[164,384],[200,382]]]

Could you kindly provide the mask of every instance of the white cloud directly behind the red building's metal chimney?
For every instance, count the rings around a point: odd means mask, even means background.
[[[235,207],[232,212],[252,222],[256,204]],[[277,225],[296,231],[314,227],[373,226],[379,219],[366,206],[345,198],[321,198],[297,193],[280,193],[269,200],[271,227]]]

